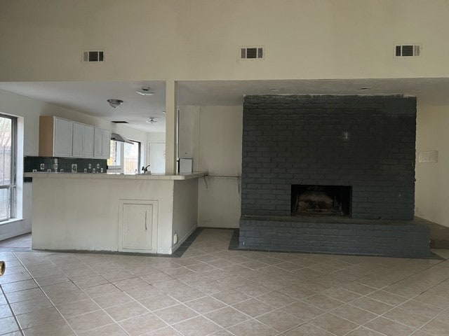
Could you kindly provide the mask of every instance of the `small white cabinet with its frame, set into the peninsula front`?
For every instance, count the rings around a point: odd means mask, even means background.
[[[157,201],[120,200],[121,251],[157,251]]]

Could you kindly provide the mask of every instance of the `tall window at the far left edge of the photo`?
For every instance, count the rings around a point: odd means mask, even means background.
[[[0,221],[15,217],[17,120],[0,114]]]

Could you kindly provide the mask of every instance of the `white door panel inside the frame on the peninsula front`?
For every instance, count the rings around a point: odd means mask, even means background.
[[[151,204],[123,204],[122,248],[152,250],[152,218]]]

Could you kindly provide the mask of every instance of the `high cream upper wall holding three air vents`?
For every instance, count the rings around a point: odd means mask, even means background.
[[[447,77],[447,0],[0,0],[2,80]],[[396,43],[422,57],[394,59]],[[238,61],[264,45],[263,62]],[[81,52],[105,50],[105,64]]]

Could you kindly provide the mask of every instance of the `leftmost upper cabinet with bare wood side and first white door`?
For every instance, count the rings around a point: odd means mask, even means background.
[[[58,117],[39,118],[39,156],[71,157],[73,123]]]

